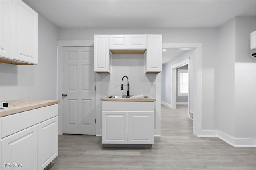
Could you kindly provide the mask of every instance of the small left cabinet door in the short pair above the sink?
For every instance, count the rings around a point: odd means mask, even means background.
[[[127,49],[128,35],[109,35],[109,49]]]

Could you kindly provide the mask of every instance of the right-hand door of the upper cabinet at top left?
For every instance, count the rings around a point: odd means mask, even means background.
[[[14,0],[12,23],[12,59],[38,64],[38,13],[21,0]]]

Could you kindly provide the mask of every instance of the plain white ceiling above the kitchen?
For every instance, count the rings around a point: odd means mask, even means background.
[[[256,16],[255,0],[28,0],[60,28],[218,27]]]

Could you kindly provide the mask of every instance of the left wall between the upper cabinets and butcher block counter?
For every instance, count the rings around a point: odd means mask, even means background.
[[[0,64],[0,100],[56,99],[58,29],[39,14],[38,65]]]

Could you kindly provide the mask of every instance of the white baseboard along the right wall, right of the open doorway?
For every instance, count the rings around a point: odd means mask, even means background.
[[[256,147],[256,139],[234,138],[219,130],[202,130],[198,137],[218,137],[233,147]]]

